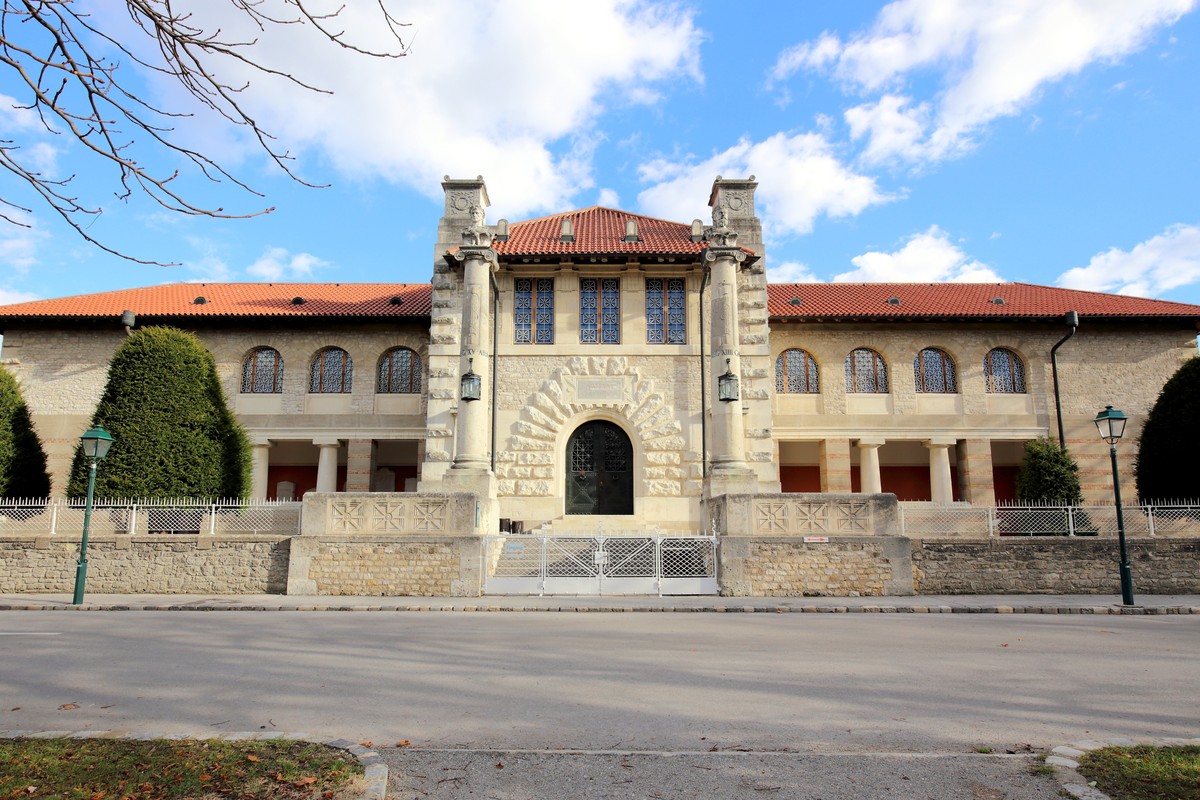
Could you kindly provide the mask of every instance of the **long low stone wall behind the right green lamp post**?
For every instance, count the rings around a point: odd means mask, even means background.
[[[1134,594],[1200,593],[1200,539],[1130,539]],[[923,595],[1100,594],[1120,591],[1115,539],[913,540]]]

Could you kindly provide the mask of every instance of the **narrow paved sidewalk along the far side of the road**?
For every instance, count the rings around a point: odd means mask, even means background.
[[[707,612],[916,614],[1200,614],[1200,595],[916,595],[910,597],[330,597],[296,595],[0,595],[0,610]]]

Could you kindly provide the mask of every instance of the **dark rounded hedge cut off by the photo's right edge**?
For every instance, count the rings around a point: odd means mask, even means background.
[[[1150,410],[1138,445],[1142,503],[1200,499],[1200,356],[1180,367]]]

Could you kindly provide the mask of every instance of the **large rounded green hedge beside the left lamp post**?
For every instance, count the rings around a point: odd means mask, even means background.
[[[145,327],[126,338],[91,423],[114,439],[96,473],[97,498],[250,494],[250,441],[212,355],[191,333]],[[67,494],[86,491],[88,462],[77,450]]]

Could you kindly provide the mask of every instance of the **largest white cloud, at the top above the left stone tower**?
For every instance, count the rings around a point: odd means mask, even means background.
[[[196,6],[212,28],[240,32],[224,4]],[[655,102],[659,86],[701,80],[695,12],[670,2],[388,6],[412,24],[400,29],[412,43],[408,56],[377,60],[307,47],[311,34],[295,26],[254,31],[257,58],[334,94],[251,73],[245,98],[289,146],[319,150],[348,175],[432,196],[445,174],[482,174],[503,203],[492,217],[568,204],[593,186],[587,136],[606,108]],[[377,32],[373,7],[347,4],[337,26],[350,38]]]

